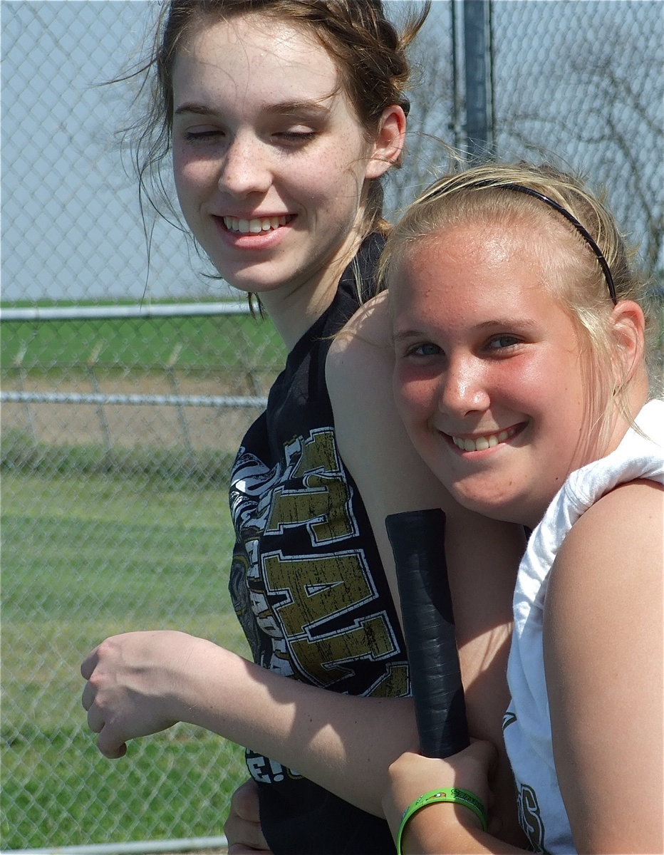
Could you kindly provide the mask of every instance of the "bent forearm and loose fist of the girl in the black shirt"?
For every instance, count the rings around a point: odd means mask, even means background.
[[[171,630],[116,635],[85,659],[83,705],[109,758],[190,722],[296,769],[381,816],[387,769],[416,746],[408,699],[356,698],[289,680]]]

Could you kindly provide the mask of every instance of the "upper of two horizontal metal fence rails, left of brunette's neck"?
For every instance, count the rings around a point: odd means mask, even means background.
[[[109,318],[181,317],[183,315],[249,315],[245,300],[220,303],[134,304],[126,306],[31,306],[0,309],[1,321],[74,321]]]

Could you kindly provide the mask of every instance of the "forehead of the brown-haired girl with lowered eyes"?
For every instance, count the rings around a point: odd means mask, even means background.
[[[313,33],[260,14],[203,18],[180,45],[173,65],[176,101],[332,100],[338,82],[332,56]]]

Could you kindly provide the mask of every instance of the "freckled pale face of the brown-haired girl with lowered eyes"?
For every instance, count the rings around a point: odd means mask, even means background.
[[[179,203],[233,286],[263,298],[336,286],[356,251],[366,181],[389,163],[339,82],[303,27],[260,14],[203,21],[179,49]]]

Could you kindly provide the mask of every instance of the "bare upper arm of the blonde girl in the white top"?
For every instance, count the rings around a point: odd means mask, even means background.
[[[567,535],[544,616],[555,768],[579,852],[664,852],[664,489],[634,481]]]

